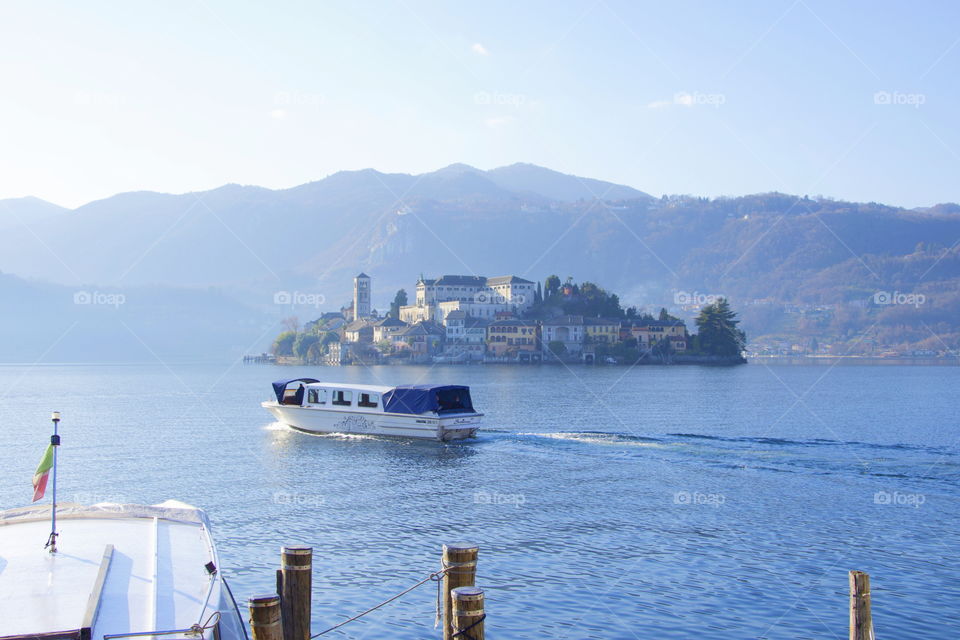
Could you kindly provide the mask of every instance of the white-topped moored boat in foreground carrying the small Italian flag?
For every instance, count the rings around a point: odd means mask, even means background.
[[[243,640],[210,525],[176,501],[0,511],[0,639]]]

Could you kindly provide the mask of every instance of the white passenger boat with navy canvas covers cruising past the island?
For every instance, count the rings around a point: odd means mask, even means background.
[[[262,403],[279,421],[307,433],[346,433],[434,440],[476,435],[482,413],[473,409],[470,387],[376,385],[277,380],[276,400]]]

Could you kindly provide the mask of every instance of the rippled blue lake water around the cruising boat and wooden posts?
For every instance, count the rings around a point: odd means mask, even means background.
[[[271,380],[471,385],[463,444],[273,424]],[[958,367],[0,367],[0,506],[30,500],[49,412],[60,493],[205,508],[242,603],[315,550],[314,630],[481,546],[497,638],[960,637]],[[38,540],[38,544],[42,544]],[[328,637],[426,638],[432,585]]]

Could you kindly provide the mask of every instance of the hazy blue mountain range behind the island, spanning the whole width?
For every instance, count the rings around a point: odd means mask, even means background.
[[[49,325],[44,306],[63,322],[90,320],[89,305],[73,303],[77,292],[125,295],[120,311],[106,305],[91,326],[102,333],[107,319],[127,314],[124,332],[141,338],[133,359],[256,350],[281,316],[309,320],[347,303],[359,271],[373,277],[380,309],[397,289],[412,293],[421,274],[557,274],[640,306],[725,295],[754,337],[852,344],[880,327],[886,333],[871,340],[954,346],[958,242],[960,207],[951,203],[907,210],[778,193],[655,198],[530,164],[342,171],[290,189],[133,192],[72,210],[0,200],[0,302],[16,309],[0,324],[29,334],[0,347],[0,360],[41,356],[60,326]],[[283,291],[310,294],[311,306],[274,304]],[[924,303],[877,303],[878,292],[922,294]],[[805,312],[818,306],[832,310]],[[130,344],[101,339],[53,353],[132,358]]]

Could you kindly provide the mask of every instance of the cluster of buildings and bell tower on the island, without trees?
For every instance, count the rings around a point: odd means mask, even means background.
[[[413,304],[381,316],[371,306],[371,278],[354,278],[353,302],[317,323],[336,331],[326,364],[379,362],[392,357],[417,362],[539,362],[560,356],[594,362],[597,345],[636,340],[643,352],[668,340],[687,349],[682,321],[634,323],[620,318],[560,315],[533,318],[536,283],[517,276],[421,276]]]

